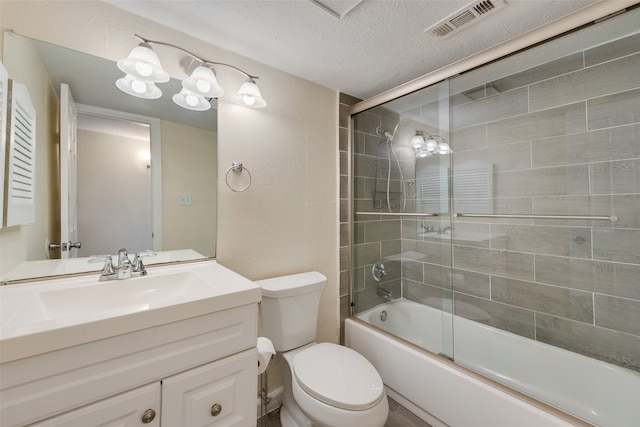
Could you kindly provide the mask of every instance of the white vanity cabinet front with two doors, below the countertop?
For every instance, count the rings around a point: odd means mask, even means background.
[[[255,426],[257,313],[256,301],[4,363],[0,425]]]

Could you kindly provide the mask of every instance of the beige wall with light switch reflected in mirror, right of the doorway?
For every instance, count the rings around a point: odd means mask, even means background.
[[[167,121],[161,126],[162,248],[214,254],[217,133]],[[183,193],[191,195],[190,206],[180,205]]]

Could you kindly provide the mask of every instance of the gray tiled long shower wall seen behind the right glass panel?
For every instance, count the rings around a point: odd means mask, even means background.
[[[640,371],[640,36],[451,88],[454,181],[490,168],[489,213],[618,217],[454,219],[455,313]],[[442,296],[448,267],[405,297]]]

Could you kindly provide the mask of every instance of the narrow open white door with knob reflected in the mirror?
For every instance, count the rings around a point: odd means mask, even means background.
[[[60,258],[77,258],[78,112],[69,85],[60,88]]]

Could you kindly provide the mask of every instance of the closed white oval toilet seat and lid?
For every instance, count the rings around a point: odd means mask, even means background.
[[[313,345],[293,359],[295,380],[327,405],[365,410],[384,397],[382,378],[360,353],[337,344]]]

